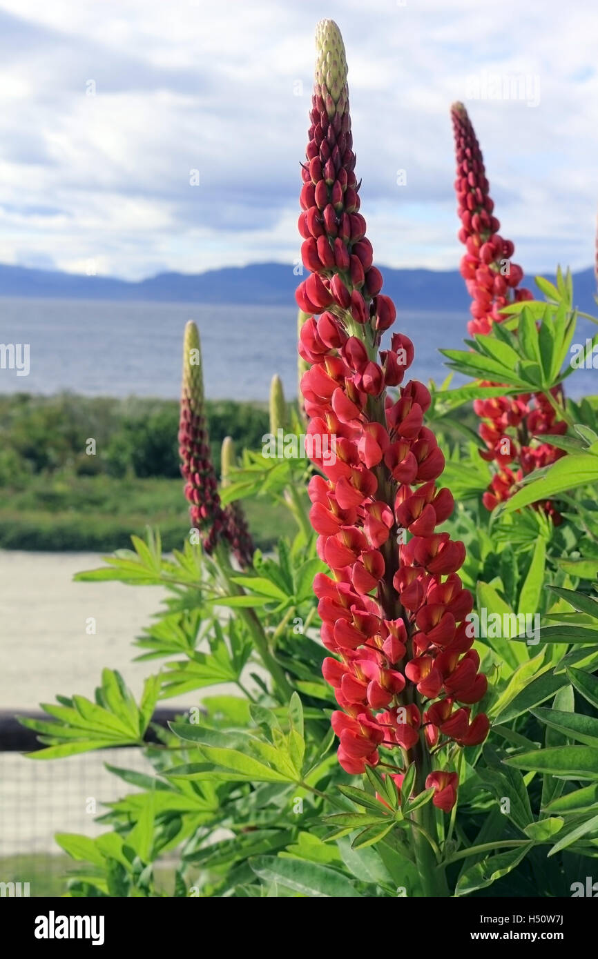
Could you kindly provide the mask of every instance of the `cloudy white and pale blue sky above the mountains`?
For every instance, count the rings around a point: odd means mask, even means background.
[[[515,262],[592,263],[593,0],[0,0],[0,263],[292,266],[323,17],[347,48],[376,263],[458,265],[455,100]]]

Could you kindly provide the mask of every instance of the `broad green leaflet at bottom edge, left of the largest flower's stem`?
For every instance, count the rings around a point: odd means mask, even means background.
[[[250,859],[257,877],[265,882],[277,882],[310,899],[358,899],[353,883],[341,873],[315,862],[285,859],[274,855],[257,855]]]

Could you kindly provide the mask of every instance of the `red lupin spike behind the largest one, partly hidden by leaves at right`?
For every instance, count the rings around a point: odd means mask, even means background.
[[[493,323],[504,319],[501,313],[504,307],[511,302],[533,299],[533,294],[519,287],[523,270],[511,260],[514,244],[503,240],[498,233],[500,223],[493,215],[484,158],[463,104],[452,105],[451,119],[457,159],[459,239],[466,246],[460,270],[472,299],[472,318],[467,330],[470,334],[486,335]],[[556,388],[553,394],[563,402],[562,387]],[[562,456],[562,451],[548,443],[532,443],[534,437],[545,433],[565,433],[566,423],[558,418],[550,400],[542,393],[516,399],[476,400],[474,409],[482,418],[480,435],[487,447],[482,456],[489,462],[493,460],[498,468],[483,498],[488,509],[493,509],[512,495],[516,482],[525,475]],[[507,435],[510,429],[516,432],[516,439]],[[510,468],[513,466],[515,471]],[[555,523],[561,522],[560,514],[551,503],[541,505]]]

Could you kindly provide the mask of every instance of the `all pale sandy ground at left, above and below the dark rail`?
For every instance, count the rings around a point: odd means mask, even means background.
[[[93,553],[0,550],[0,709],[36,711],[40,702],[55,702],[57,693],[92,696],[105,666],[119,669],[138,697],[159,661],[132,663],[140,652],[132,640],[158,609],[163,591],[72,581],[74,573],[101,565]],[[95,636],[85,633],[89,617],[96,620]],[[194,701],[187,693],[168,705]],[[48,762],[0,753],[0,860],[56,852],[57,831],[104,831],[93,822],[104,811],[102,802],[134,791],[110,776],[105,762],[140,769],[145,760],[133,749]]]

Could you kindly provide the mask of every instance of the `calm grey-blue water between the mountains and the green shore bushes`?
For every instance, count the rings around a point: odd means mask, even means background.
[[[274,373],[297,395],[297,313],[290,307],[201,306],[0,299],[0,342],[30,343],[30,373],[0,371],[0,392],[179,395],[182,331],[201,332],[205,389],[213,399],[266,399]],[[416,343],[412,375],[443,378],[440,346],[456,346],[466,316],[399,316]]]

